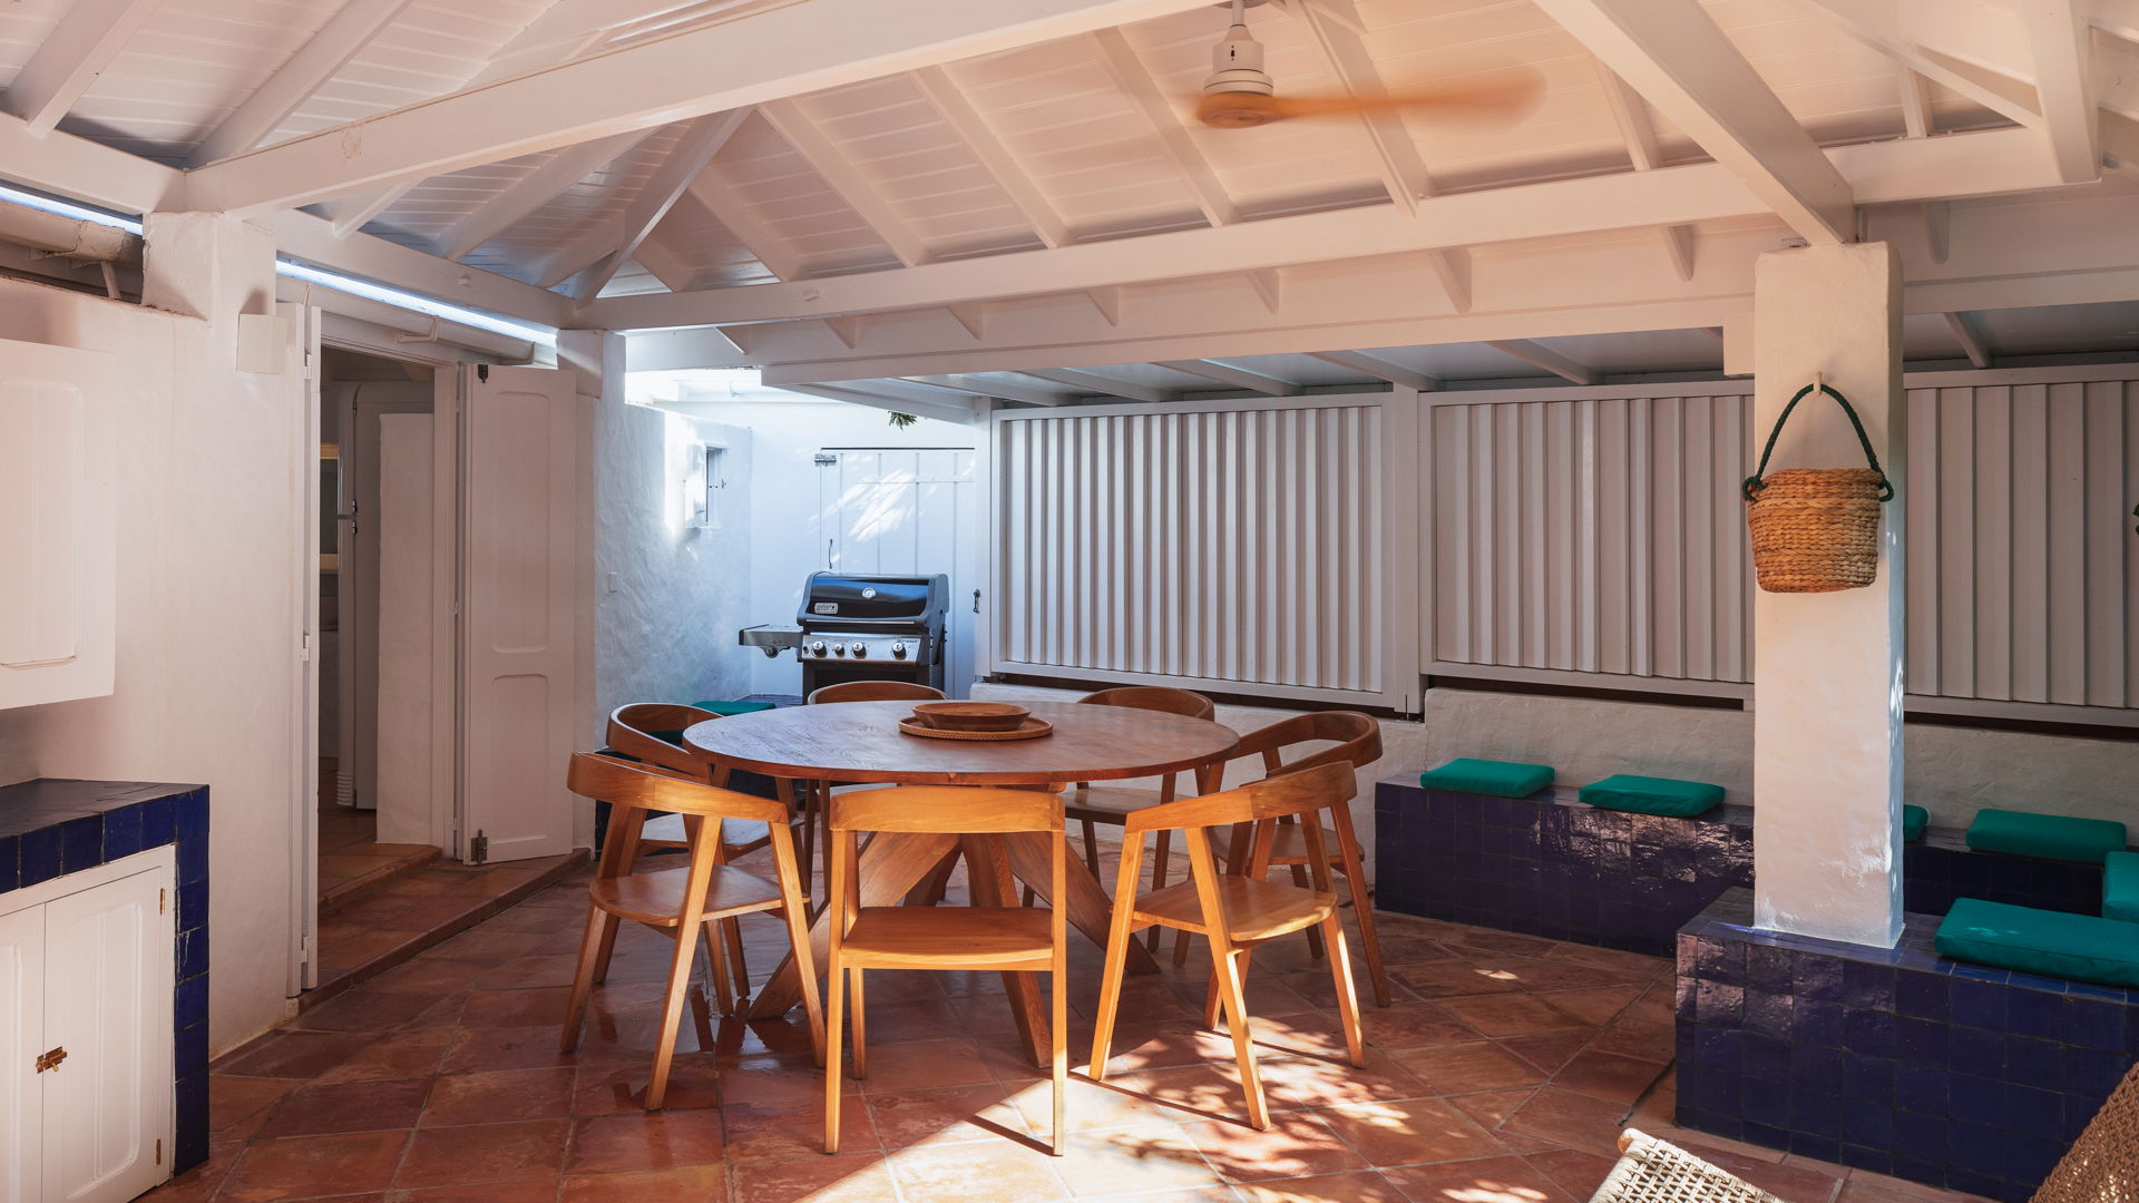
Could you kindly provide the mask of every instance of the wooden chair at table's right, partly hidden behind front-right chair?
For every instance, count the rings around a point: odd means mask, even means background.
[[[1333,743],[1335,747],[1324,747],[1322,751],[1298,756],[1288,762],[1286,749],[1303,743]],[[1234,747],[1232,758],[1245,760],[1249,756],[1262,758],[1264,779],[1281,773],[1298,773],[1301,768],[1313,768],[1318,764],[1350,764],[1352,768],[1365,768],[1382,758],[1382,726],[1358,711],[1315,711],[1296,715],[1243,736],[1238,747]],[[1337,807],[1330,811],[1330,820],[1333,826],[1322,831],[1322,850],[1328,854],[1326,865],[1345,880],[1345,901],[1352,905],[1352,916],[1358,920],[1358,938],[1367,957],[1367,976],[1373,980],[1373,1002],[1375,1006],[1388,1006],[1388,974],[1382,970],[1382,940],[1373,931],[1373,897],[1365,890],[1367,873],[1360,865],[1358,833],[1352,828],[1352,811]],[[1247,861],[1245,841],[1247,828],[1232,835],[1226,863],[1234,873],[1238,873]],[[1277,826],[1277,837],[1271,846],[1271,865],[1292,869],[1294,886],[1307,884],[1313,856],[1315,852],[1309,848],[1301,824],[1288,820]],[[1318,933],[1309,931],[1307,944],[1313,948],[1315,957],[1322,955],[1322,938]],[[1174,963],[1187,963],[1187,935],[1174,938]]]

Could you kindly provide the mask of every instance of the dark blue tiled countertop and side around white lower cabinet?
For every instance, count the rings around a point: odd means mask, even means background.
[[[207,1160],[207,786],[41,777],[0,786],[0,895],[175,846],[173,1173]]]

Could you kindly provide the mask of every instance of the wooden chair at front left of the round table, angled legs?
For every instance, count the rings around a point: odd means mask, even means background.
[[[610,803],[610,833],[601,863],[588,884],[586,935],[580,942],[580,968],[571,978],[571,1002],[565,1006],[563,1051],[580,1045],[586,1002],[595,983],[607,976],[607,950],[616,944],[616,927],[629,918],[676,940],[670,963],[667,993],[661,1004],[661,1038],[655,1045],[655,1070],[646,1083],[646,1109],[659,1111],[667,1096],[670,1062],[676,1055],[676,1025],[691,991],[691,961],[704,940],[714,989],[723,1010],[729,1010],[727,978],[721,972],[721,950],[712,940],[717,920],[770,912],[787,920],[802,970],[802,1002],[809,1010],[811,1045],[824,1060],[824,1008],[817,1000],[817,972],[811,965],[809,910],[796,869],[794,835],[787,831],[785,807],[768,798],[736,794],[704,781],[693,781],[665,768],[627,764],[610,756],[578,753],[571,758],[565,786],[580,796]],[[678,869],[633,871],[644,811],[687,816],[691,861]],[[727,820],[761,822],[772,841],[776,880],[725,865],[721,826]]]

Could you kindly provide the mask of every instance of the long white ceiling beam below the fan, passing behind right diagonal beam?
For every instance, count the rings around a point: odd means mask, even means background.
[[[1837,146],[1827,156],[1852,180],[1863,203],[2019,193],[2058,184],[2056,167],[2034,131]],[[590,306],[588,317],[603,330],[781,321],[1179,280],[1215,272],[1217,265],[1238,278],[1241,272],[1262,268],[1767,212],[1730,169],[1698,163],[1448,193],[1420,201],[1416,216],[1405,216],[1395,205],[1369,205],[789,285],[605,298]],[[1288,295],[1290,291],[1288,285]]]

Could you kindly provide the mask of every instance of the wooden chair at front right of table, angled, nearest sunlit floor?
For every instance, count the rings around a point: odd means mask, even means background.
[[[1268,777],[1224,794],[1183,798],[1129,816],[1127,839],[1121,843],[1121,875],[1114,878],[1114,923],[1106,940],[1106,976],[1099,983],[1099,1025],[1091,1038],[1091,1077],[1106,1079],[1108,1045],[1114,1040],[1114,1019],[1121,1008],[1121,978],[1127,965],[1127,944],[1147,927],[1194,931],[1211,940],[1211,991],[1204,998],[1204,1027],[1215,1027],[1224,1008],[1232,1032],[1234,1060],[1247,1090],[1247,1120],[1256,1128],[1271,1126],[1271,1109],[1262,1096],[1262,1075],[1249,1036],[1247,978],[1249,953],[1268,940],[1301,929],[1322,929],[1330,950],[1330,976],[1337,983],[1337,1010],[1343,1017],[1343,1038],[1354,1066],[1367,1064],[1367,1045],[1358,1027],[1358,998],[1352,991],[1352,961],[1345,955],[1343,920],[1337,916],[1337,895],[1330,890],[1328,856],[1322,848],[1320,811],[1343,809],[1356,792],[1350,764],[1320,764],[1283,777]],[[1311,886],[1266,882],[1277,820],[1305,818],[1303,831],[1313,852],[1305,869]],[[1249,824],[1249,873],[1219,873],[1211,852],[1213,826]],[[1179,886],[1136,897],[1138,861],[1144,854],[1147,831],[1181,831],[1189,848],[1189,880]]]

